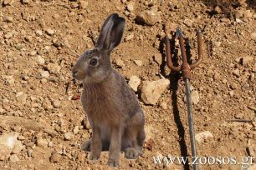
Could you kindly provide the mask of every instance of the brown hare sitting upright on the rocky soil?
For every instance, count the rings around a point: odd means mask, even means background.
[[[91,152],[91,160],[99,159],[101,151],[109,151],[111,167],[119,166],[120,151],[125,158],[138,158],[145,140],[145,117],[136,95],[110,62],[124,28],[125,19],[111,14],[95,48],[84,52],[72,68],[72,76],[83,82],[81,102],[92,128],[92,138],[82,148]]]

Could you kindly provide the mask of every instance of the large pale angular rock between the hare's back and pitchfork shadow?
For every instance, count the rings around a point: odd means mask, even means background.
[[[170,81],[166,78],[156,81],[145,81],[141,87],[141,99],[145,104],[154,105],[165,91]]]

